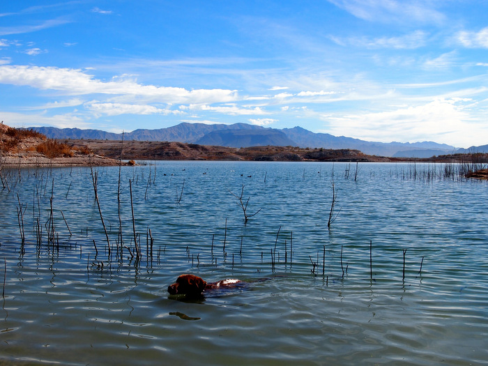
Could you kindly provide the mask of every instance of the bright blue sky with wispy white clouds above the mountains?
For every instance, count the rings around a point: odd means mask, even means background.
[[[488,1],[3,1],[0,119],[488,144]]]

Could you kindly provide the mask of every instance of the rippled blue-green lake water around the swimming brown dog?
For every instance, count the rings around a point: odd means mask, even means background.
[[[121,256],[119,167],[96,169],[110,255],[89,168],[3,169],[0,363],[487,364],[487,183],[413,179],[400,164],[360,164],[355,181],[348,167],[123,167]],[[130,183],[139,261],[125,248]],[[261,209],[247,224],[231,194],[243,185],[247,212]],[[169,298],[181,273],[249,284]]]

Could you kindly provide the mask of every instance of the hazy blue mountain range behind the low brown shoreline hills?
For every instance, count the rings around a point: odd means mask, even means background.
[[[132,132],[114,133],[79,128],[31,128],[54,139],[107,139],[137,141],[169,141],[190,144],[229,147],[249,146],[300,146],[303,148],[351,148],[368,155],[429,158],[432,155],[455,153],[456,148],[436,142],[368,142],[352,137],[336,137],[328,133],[314,133],[305,128],[264,128],[247,123],[233,125],[205,123],[180,123],[169,128],[155,130],[138,129]],[[488,147],[488,146],[487,146]]]

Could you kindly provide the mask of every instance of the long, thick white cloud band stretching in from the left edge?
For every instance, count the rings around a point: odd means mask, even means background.
[[[131,95],[165,103],[213,103],[236,100],[237,92],[224,89],[195,89],[142,85],[133,80],[103,82],[82,70],[40,66],[0,66],[0,84],[57,90],[67,95],[101,93]]]

